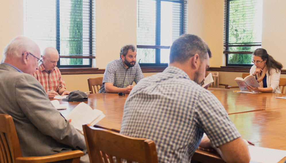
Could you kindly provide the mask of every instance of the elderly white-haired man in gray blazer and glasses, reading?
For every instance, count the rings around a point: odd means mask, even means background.
[[[81,162],[89,162],[84,136],[53,107],[32,76],[41,64],[40,57],[39,46],[24,36],[5,46],[0,64],[0,113],[13,117],[23,156],[82,150]]]

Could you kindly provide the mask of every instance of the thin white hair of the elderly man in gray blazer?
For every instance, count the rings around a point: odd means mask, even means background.
[[[32,51],[35,48],[35,42],[25,36],[14,37],[9,44],[3,49],[3,59],[7,57],[18,58],[21,57],[25,51]]]

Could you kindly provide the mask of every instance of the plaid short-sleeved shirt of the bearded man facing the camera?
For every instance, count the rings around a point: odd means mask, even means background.
[[[125,88],[132,85],[133,81],[137,84],[142,78],[144,76],[138,62],[135,66],[126,69],[121,58],[113,60],[106,65],[102,86],[98,93],[105,93],[105,82],[113,83],[113,86],[118,88]]]

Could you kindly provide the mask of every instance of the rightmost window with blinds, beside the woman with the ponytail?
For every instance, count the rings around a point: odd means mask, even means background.
[[[225,0],[226,66],[252,66],[261,48],[262,0]]]

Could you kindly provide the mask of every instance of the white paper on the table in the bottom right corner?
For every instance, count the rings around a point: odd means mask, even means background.
[[[250,161],[260,163],[277,163],[286,156],[285,150],[263,148],[249,145]]]

